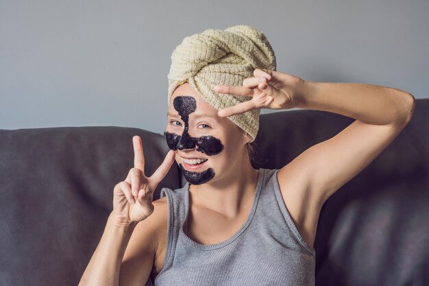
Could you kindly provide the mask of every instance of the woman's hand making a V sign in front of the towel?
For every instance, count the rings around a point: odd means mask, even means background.
[[[227,117],[258,108],[295,108],[304,99],[307,90],[308,82],[295,75],[270,69],[255,69],[254,77],[243,80],[243,86],[215,86],[216,93],[253,97],[246,102],[219,110],[218,115]]]

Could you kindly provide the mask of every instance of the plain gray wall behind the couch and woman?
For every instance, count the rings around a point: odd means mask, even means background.
[[[428,13],[427,0],[0,0],[0,128],[162,133],[175,46],[238,24],[264,32],[278,71],[426,98]]]

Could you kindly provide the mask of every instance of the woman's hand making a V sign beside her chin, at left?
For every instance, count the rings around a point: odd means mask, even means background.
[[[133,136],[134,168],[128,172],[127,178],[119,182],[113,189],[113,211],[116,223],[129,226],[140,222],[154,212],[154,191],[159,182],[167,175],[175,160],[175,152],[169,150],[164,161],[154,174],[145,176],[145,156],[140,136]]]

